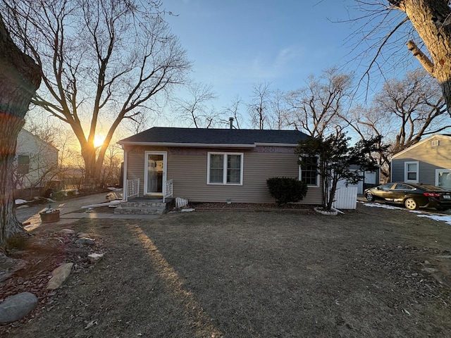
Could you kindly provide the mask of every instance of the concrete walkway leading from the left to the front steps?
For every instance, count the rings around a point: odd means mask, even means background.
[[[109,213],[97,212],[96,208],[93,208],[91,212],[87,209],[82,209],[82,206],[89,206],[92,204],[106,203],[106,192],[101,194],[94,194],[89,196],[76,197],[74,199],[68,199],[66,201],[55,201],[49,204],[43,204],[39,206],[30,206],[27,208],[16,209],[16,216],[20,222],[25,224],[25,227],[29,230],[29,227],[38,227],[41,225],[40,212],[46,210],[49,206],[54,209],[60,209],[60,220],[53,224],[68,224],[73,223],[80,218],[104,218],[104,219],[147,219],[154,220],[159,218],[160,215],[116,215],[113,213],[113,208]],[[29,223],[29,224],[27,224]]]

